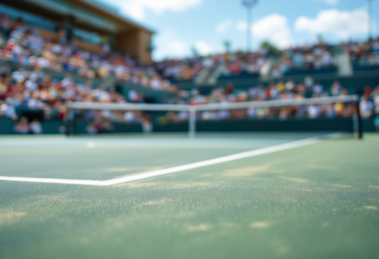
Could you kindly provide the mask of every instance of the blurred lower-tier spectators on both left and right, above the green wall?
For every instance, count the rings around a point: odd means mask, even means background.
[[[288,80],[286,82],[271,82],[267,86],[259,84],[247,90],[234,89],[232,84],[226,87],[215,87],[210,94],[203,95],[196,88],[189,92],[189,98],[174,97],[167,103],[200,105],[209,103],[234,103],[245,101],[303,99],[307,97],[326,97],[348,95],[339,81],[334,81],[330,87],[324,88],[319,82],[308,76],[302,82]],[[143,102],[143,95],[136,90],[130,90],[127,98],[112,88],[93,87],[90,83],[77,84],[67,75],[63,80],[52,79],[42,71],[27,71],[19,69],[8,73],[5,69],[0,75],[0,115],[15,121],[15,131],[19,133],[39,132],[37,126],[27,126],[25,118],[17,115],[16,109],[44,111],[45,119],[63,120],[67,115],[67,101],[86,101],[100,103]],[[356,112],[353,103],[330,103],[326,105],[287,106],[271,108],[251,108],[237,110],[203,111],[197,113],[198,120],[225,119],[267,119],[289,117],[319,117],[334,118],[338,116],[351,117]],[[374,90],[365,87],[360,101],[360,112],[363,118],[369,118],[374,113],[379,114],[379,86]],[[111,129],[110,122],[145,123],[151,122],[151,117],[140,111],[77,111],[76,119],[94,120],[88,132],[99,132],[102,128]],[[187,112],[168,112],[160,118],[160,122],[180,122],[188,120]],[[33,123],[38,124],[37,122]],[[148,124],[148,123],[147,123]],[[32,130],[33,128],[33,130]]]

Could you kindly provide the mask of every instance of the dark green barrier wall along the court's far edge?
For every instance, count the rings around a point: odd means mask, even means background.
[[[75,134],[87,134],[86,127],[90,122],[80,121],[75,123]],[[0,134],[14,134],[13,120],[0,118]],[[58,134],[58,128],[63,125],[61,121],[41,122],[44,134]],[[113,123],[114,133],[138,133],[142,132],[139,124]],[[154,132],[187,132],[188,123],[155,124]],[[351,118],[338,119],[289,119],[289,120],[226,120],[226,121],[202,121],[197,122],[196,131],[353,131]],[[374,118],[363,120],[363,131],[375,131]]]

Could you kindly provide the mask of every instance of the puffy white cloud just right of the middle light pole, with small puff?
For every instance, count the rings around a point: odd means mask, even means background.
[[[246,22],[238,22],[236,29],[246,30]],[[252,25],[253,40],[269,41],[279,48],[289,47],[292,43],[291,31],[286,17],[270,14]]]

